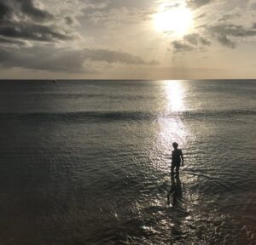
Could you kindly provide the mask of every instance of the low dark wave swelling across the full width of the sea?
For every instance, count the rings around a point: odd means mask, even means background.
[[[256,110],[226,110],[226,111],[74,111],[74,112],[11,112],[0,113],[1,119],[26,119],[40,121],[138,121],[138,120],[153,120],[157,121],[160,118],[177,118],[200,120],[207,117],[229,118],[237,116],[256,116]]]

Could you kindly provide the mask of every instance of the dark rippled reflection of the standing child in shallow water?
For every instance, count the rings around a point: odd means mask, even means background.
[[[171,203],[172,197],[172,203]],[[169,207],[181,208],[181,202],[183,199],[183,191],[181,186],[181,181],[178,174],[174,177],[171,175],[171,186],[170,191],[167,194],[167,203]]]

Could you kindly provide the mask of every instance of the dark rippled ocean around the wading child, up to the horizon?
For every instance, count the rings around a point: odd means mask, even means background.
[[[256,244],[255,94],[253,80],[0,81],[0,244]]]

